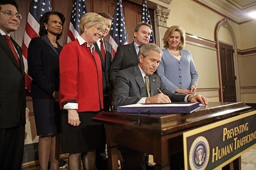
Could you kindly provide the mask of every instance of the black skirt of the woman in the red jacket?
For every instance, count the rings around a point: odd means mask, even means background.
[[[68,111],[62,110],[62,151],[70,154],[84,153],[100,146],[101,123],[93,122],[97,113],[78,113],[81,121],[79,126],[68,123]]]

